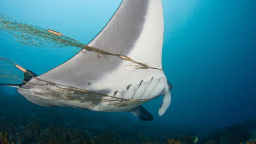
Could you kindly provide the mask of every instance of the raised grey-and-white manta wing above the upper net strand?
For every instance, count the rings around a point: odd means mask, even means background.
[[[163,33],[161,0],[124,0],[88,45],[162,69]]]

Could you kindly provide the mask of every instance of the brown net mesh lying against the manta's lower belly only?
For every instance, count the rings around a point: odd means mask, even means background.
[[[149,100],[145,99],[122,99],[110,97],[109,95],[79,89],[73,86],[66,86],[44,81],[34,77],[37,81],[28,82],[24,89],[30,89],[30,96],[40,100],[75,100],[83,103],[83,107],[94,107],[107,102],[108,105],[124,107],[132,105],[142,105]],[[35,91],[34,91],[35,89]],[[38,97],[39,96],[39,97]]]

